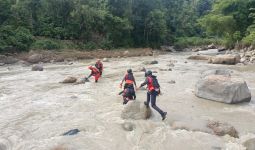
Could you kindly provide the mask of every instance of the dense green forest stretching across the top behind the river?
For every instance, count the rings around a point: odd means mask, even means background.
[[[255,0],[0,0],[0,51],[255,45]]]

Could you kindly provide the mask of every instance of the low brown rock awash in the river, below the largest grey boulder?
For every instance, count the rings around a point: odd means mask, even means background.
[[[218,121],[209,121],[207,123],[207,127],[212,129],[215,135],[224,136],[228,134],[234,138],[239,138],[238,132],[230,124],[221,123]]]

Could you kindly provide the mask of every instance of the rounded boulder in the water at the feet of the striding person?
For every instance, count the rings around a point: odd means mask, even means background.
[[[144,103],[141,103],[136,100],[128,102],[121,113],[122,119],[145,120],[150,118],[150,116],[151,116],[150,107],[147,108],[144,105]]]

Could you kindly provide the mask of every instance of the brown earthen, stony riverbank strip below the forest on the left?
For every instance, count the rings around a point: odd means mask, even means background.
[[[95,58],[121,58],[134,56],[152,56],[150,48],[127,49],[127,50],[95,50],[95,51],[30,51],[20,54],[0,55],[0,66],[8,64],[31,65],[37,63],[70,62]]]

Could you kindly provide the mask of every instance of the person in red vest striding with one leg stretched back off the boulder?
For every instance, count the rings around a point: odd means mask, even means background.
[[[149,107],[149,104],[151,102],[152,108],[154,108],[158,113],[160,113],[162,120],[165,120],[167,112],[162,111],[157,105],[156,105],[156,97],[160,94],[160,85],[158,83],[158,80],[156,76],[152,75],[152,72],[148,70],[145,73],[146,80],[139,86],[139,88],[147,85],[147,101],[144,102],[144,104]],[[139,89],[138,88],[138,89]]]

